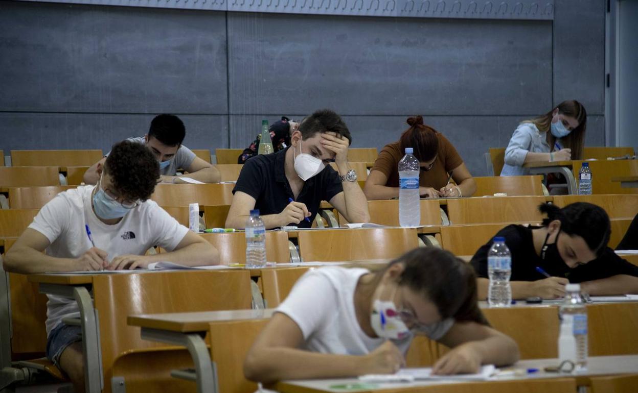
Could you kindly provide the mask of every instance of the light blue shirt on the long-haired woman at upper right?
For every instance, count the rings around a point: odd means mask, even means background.
[[[501,176],[529,175],[530,169],[523,168],[525,157],[529,152],[549,153],[547,132],[540,132],[533,123],[521,123],[505,149],[505,165]]]

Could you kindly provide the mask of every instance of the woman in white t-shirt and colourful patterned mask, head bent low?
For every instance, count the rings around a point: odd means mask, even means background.
[[[434,364],[438,375],[512,364],[518,346],[487,323],[475,278],[471,266],[434,247],[416,248],[376,272],[308,271],[249,350],[244,375],[276,382],[395,373],[417,334],[452,348]]]

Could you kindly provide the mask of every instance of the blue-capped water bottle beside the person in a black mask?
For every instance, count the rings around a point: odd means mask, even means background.
[[[487,253],[487,273],[489,292],[487,302],[490,306],[509,307],[512,304],[512,254],[505,245],[505,238],[494,238],[494,244]]]

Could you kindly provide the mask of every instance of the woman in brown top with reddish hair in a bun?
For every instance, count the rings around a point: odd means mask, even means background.
[[[412,147],[420,162],[419,190],[422,197],[471,196],[477,189],[470,171],[452,143],[423,124],[423,117],[408,118],[408,128],[401,139],[386,145],[367,176],[364,193],[369,201],[399,196],[399,161],[405,148]],[[452,175],[454,184],[447,179]]]

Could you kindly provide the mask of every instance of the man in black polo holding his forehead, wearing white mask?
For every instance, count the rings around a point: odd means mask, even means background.
[[[366,196],[348,165],[350,142],[348,127],[334,111],[319,110],[305,118],[292,133],[291,146],[246,161],[233,189],[226,227],[244,228],[249,212],[259,209],[266,229],[308,228],[324,200],[349,222],[369,221]]]

